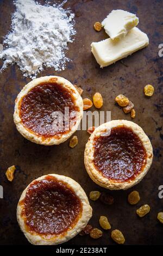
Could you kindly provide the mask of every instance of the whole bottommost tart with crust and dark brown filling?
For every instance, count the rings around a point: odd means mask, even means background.
[[[49,174],[31,182],[17,205],[17,221],[33,245],[57,245],[76,236],[92,216],[83,188]]]

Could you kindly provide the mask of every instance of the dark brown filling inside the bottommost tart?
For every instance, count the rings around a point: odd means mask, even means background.
[[[82,212],[82,203],[72,188],[51,175],[32,182],[20,204],[27,229],[40,235],[64,233]]]

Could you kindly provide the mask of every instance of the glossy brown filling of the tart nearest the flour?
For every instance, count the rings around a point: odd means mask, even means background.
[[[65,114],[65,107],[69,108],[68,119],[66,119],[68,115]],[[74,111],[79,111],[74,105],[74,97],[69,90],[57,82],[35,86],[20,103],[23,126],[45,138],[67,133],[70,130],[70,122],[76,123]]]

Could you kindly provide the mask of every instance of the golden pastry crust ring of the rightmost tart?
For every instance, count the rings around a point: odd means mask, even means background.
[[[137,136],[139,136],[147,153],[147,161],[146,161],[145,168],[139,175],[136,176],[134,180],[130,182],[127,182],[127,181],[115,182],[113,180],[109,180],[105,178],[101,173],[99,173],[93,164],[92,143],[93,143],[94,137],[100,135],[101,132],[104,131],[105,129],[109,129],[109,128],[113,128],[121,125],[125,125],[129,127],[136,133]],[[153,148],[152,148],[151,142],[149,141],[149,138],[147,137],[147,135],[139,125],[133,123],[132,121],[127,121],[127,120],[112,120],[112,121],[109,121],[108,123],[104,123],[99,127],[97,127],[95,131],[93,131],[93,133],[91,134],[88,142],[86,143],[85,152],[84,152],[85,168],[90,178],[99,186],[108,188],[109,190],[127,190],[128,188],[135,186],[147,174],[149,168],[151,167],[152,160],[153,160]]]

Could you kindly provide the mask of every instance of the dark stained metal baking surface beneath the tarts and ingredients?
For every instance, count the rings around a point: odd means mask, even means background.
[[[43,2],[43,1],[42,1]],[[55,2],[55,1],[52,1]],[[163,1],[107,1],[107,0],[70,0],[65,4],[76,14],[76,40],[70,44],[67,56],[72,59],[66,70],[55,72],[48,69],[40,76],[59,75],[76,83],[84,89],[83,97],[92,97],[95,92],[103,95],[103,111],[111,111],[112,119],[131,120],[122,109],[115,106],[114,98],[118,94],[126,94],[135,103],[136,118],[151,139],[154,149],[154,160],[151,169],[134,190],[140,192],[141,200],[136,206],[127,203],[128,191],[111,191],[115,203],[111,206],[101,202],[90,202],[93,217],[90,223],[99,227],[98,218],[106,215],[112,229],[120,229],[126,237],[127,245],[163,244],[163,225],[156,220],[157,213],[163,211],[163,199],[158,197],[158,187],[163,185],[162,160],[162,58],[158,56],[158,45],[163,42],[162,14]],[[149,46],[132,56],[119,61],[108,68],[100,69],[91,54],[90,44],[106,38],[102,31],[93,30],[96,21],[102,21],[112,9],[124,9],[136,13],[140,19],[139,28],[149,36]],[[10,0],[0,1],[1,36],[10,29],[11,13],[14,5]],[[2,40],[2,38],[0,39]],[[0,184],[4,188],[4,199],[0,199],[0,243],[2,245],[28,245],[28,241],[20,231],[16,221],[16,206],[24,188],[35,178],[49,173],[64,174],[78,181],[87,195],[91,190],[105,191],[97,186],[86,173],[83,161],[84,148],[89,135],[86,131],[77,131],[79,144],[76,148],[68,148],[69,141],[45,147],[24,139],[17,132],[12,118],[14,100],[25,84],[30,81],[23,78],[16,65],[9,66],[0,74]],[[146,84],[153,84],[155,93],[147,99],[143,94]],[[92,111],[95,110],[92,107]],[[14,181],[9,182],[5,171],[15,164]],[[142,204],[149,204],[151,212],[139,218],[135,210]],[[89,236],[76,236],[68,244],[114,245],[110,231],[104,231],[103,237],[93,240]]]

